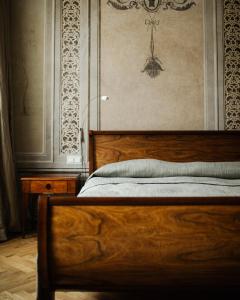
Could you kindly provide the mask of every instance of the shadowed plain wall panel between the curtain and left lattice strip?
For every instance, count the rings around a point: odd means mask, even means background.
[[[11,0],[14,142],[24,167],[53,162],[54,2]]]

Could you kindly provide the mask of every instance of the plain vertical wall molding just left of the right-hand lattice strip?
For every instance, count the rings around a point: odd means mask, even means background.
[[[224,128],[223,1],[204,0],[204,129]]]

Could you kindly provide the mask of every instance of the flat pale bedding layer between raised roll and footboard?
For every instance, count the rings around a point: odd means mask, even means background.
[[[240,196],[239,179],[208,177],[93,177],[78,197]]]

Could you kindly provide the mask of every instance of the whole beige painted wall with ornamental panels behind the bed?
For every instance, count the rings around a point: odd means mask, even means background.
[[[85,169],[89,128],[240,129],[237,0],[195,0],[188,10],[155,14],[108,2],[11,0],[21,168]],[[155,78],[142,72],[152,20],[164,69]],[[80,162],[67,163],[69,155]]]

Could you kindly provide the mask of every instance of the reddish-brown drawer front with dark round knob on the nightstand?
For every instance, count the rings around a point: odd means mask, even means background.
[[[33,181],[30,185],[31,193],[67,193],[67,181]]]

